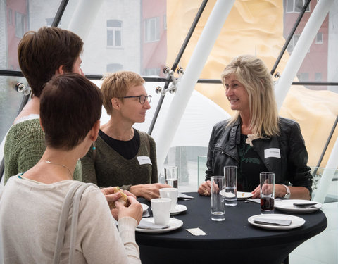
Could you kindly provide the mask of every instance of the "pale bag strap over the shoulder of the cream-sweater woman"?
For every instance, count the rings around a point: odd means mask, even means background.
[[[92,183],[83,184],[79,182],[73,184],[65,196],[65,200],[63,201],[63,205],[61,208],[60,220],[58,221],[58,234],[56,235],[56,245],[53,258],[54,264],[60,263],[61,253],[65,239],[65,229],[67,227],[68,215],[72,203],[73,203],[73,214],[72,214],[72,222],[70,225],[70,250],[68,263],[73,263],[73,258],[75,254],[77,220],[79,216],[80,200],[84,190],[87,189],[87,187],[89,186],[96,187],[96,185]]]

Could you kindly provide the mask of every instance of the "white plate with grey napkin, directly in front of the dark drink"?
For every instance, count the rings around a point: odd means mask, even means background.
[[[256,222],[253,222],[255,218],[267,218],[267,219],[285,219],[285,220],[292,220],[291,225],[264,225],[264,224],[258,224]],[[248,218],[248,222],[251,225],[255,225],[256,227],[261,227],[267,230],[291,230],[293,228],[301,227],[305,224],[305,220],[303,218],[299,218],[298,216],[294,215],[280,215],[277,213],[268,214],[268,215],[253,215]]]

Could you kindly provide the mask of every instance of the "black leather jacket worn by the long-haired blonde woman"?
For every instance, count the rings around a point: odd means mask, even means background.
[[[227,127],[228,120],[224,120],[213,127],[208,146],[206,180],[210,180],[212,175],[224,175],[225,165],[239,165],[237,145],[241,135],[240,122],[239,118]],[[308,152],[299,124],[294,120],[279,118],[279,127],[278,136],[253,139],[253,149],[269,172],[275,173],[275,184],[288,185],[290,182],[292,186],[308,188],[311,194],[311,169],[306,165]]]

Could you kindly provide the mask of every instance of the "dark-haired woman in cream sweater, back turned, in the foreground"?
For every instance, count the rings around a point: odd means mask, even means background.
[[[68,189],[84,184],[73,180],[73,172],[96,140],[101,103],[99,88],[82,75],[59,75],[44,87],[40,120],[46,151],[30,170],[8,180],[0,199],[4,263],[52,263],[61,207]],[[142,206],[134,196],[123,206],[113,189],[93,184],[82,194],[74,263],[140,263],[134,232]],[[115,201],[117,209],[110,210],[107,201]],[[68,215],[61,263],[68,263],[71,221]]]

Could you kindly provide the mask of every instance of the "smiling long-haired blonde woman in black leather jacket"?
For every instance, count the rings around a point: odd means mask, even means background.
[[[299,124],[278,117],[273,80],[261,59],[237,56],[221,75],[225,95],[236,115],[213,127],[208,146],[206,182],[199,194],[210,195],[210,177],[236,165],[237,189],[260,196],[259,173],[275,173],[275,197],[311,199],[308,153]],[[289,184],[291,183],[291,185]]]

